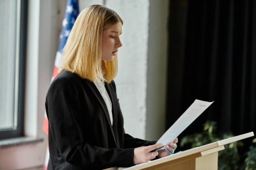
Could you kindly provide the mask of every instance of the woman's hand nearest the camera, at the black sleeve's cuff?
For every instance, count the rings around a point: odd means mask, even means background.
[[[155,148],[162,146],[162,144],[153,144],[150,146],[141,146],[134,149],[133,155],[133,163],[135,165],[139,163],[146,163],[152,159],[155,159],[158,155],[158,152],[150,152],[153,151]]]

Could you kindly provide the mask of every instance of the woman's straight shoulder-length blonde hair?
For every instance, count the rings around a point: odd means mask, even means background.
[[[65,69],[90,81],[112,81],[117,75],[117,57],[102,60],[102,32],[117,22],[123,24],[115,11],[102,5],[81,11],[63,48],[59,71]]]

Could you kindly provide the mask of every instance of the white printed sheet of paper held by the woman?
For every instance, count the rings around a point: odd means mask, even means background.
[[[185,130],[187,126],[200,116],[213,102],[214,101],[208,102],[195,99],[181,117],[179,117],[179,119],[162,135],[157,143],[162,143],[166,146],[172,142],[174,138],[177,138],[179,134],[181,134],[181,132],[183,132],[183,130]]]

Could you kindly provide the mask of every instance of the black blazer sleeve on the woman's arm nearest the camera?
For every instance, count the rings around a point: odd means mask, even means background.
[[[133,148],[101,148],[84,140],[77,124],[79,99],[69,79],[55,79],[46,96],[46,113],[53,143],[65,161],[78,167],[105,169],[133,164]],[[50,133],[49,133],[50,135]]]

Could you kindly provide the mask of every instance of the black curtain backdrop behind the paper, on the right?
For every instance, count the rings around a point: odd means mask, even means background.
[[[221,133],[256,132],[256,1],[170,0],[168,32],[166,129],[201,99],[214,103],[180,139],[206,120]]]

